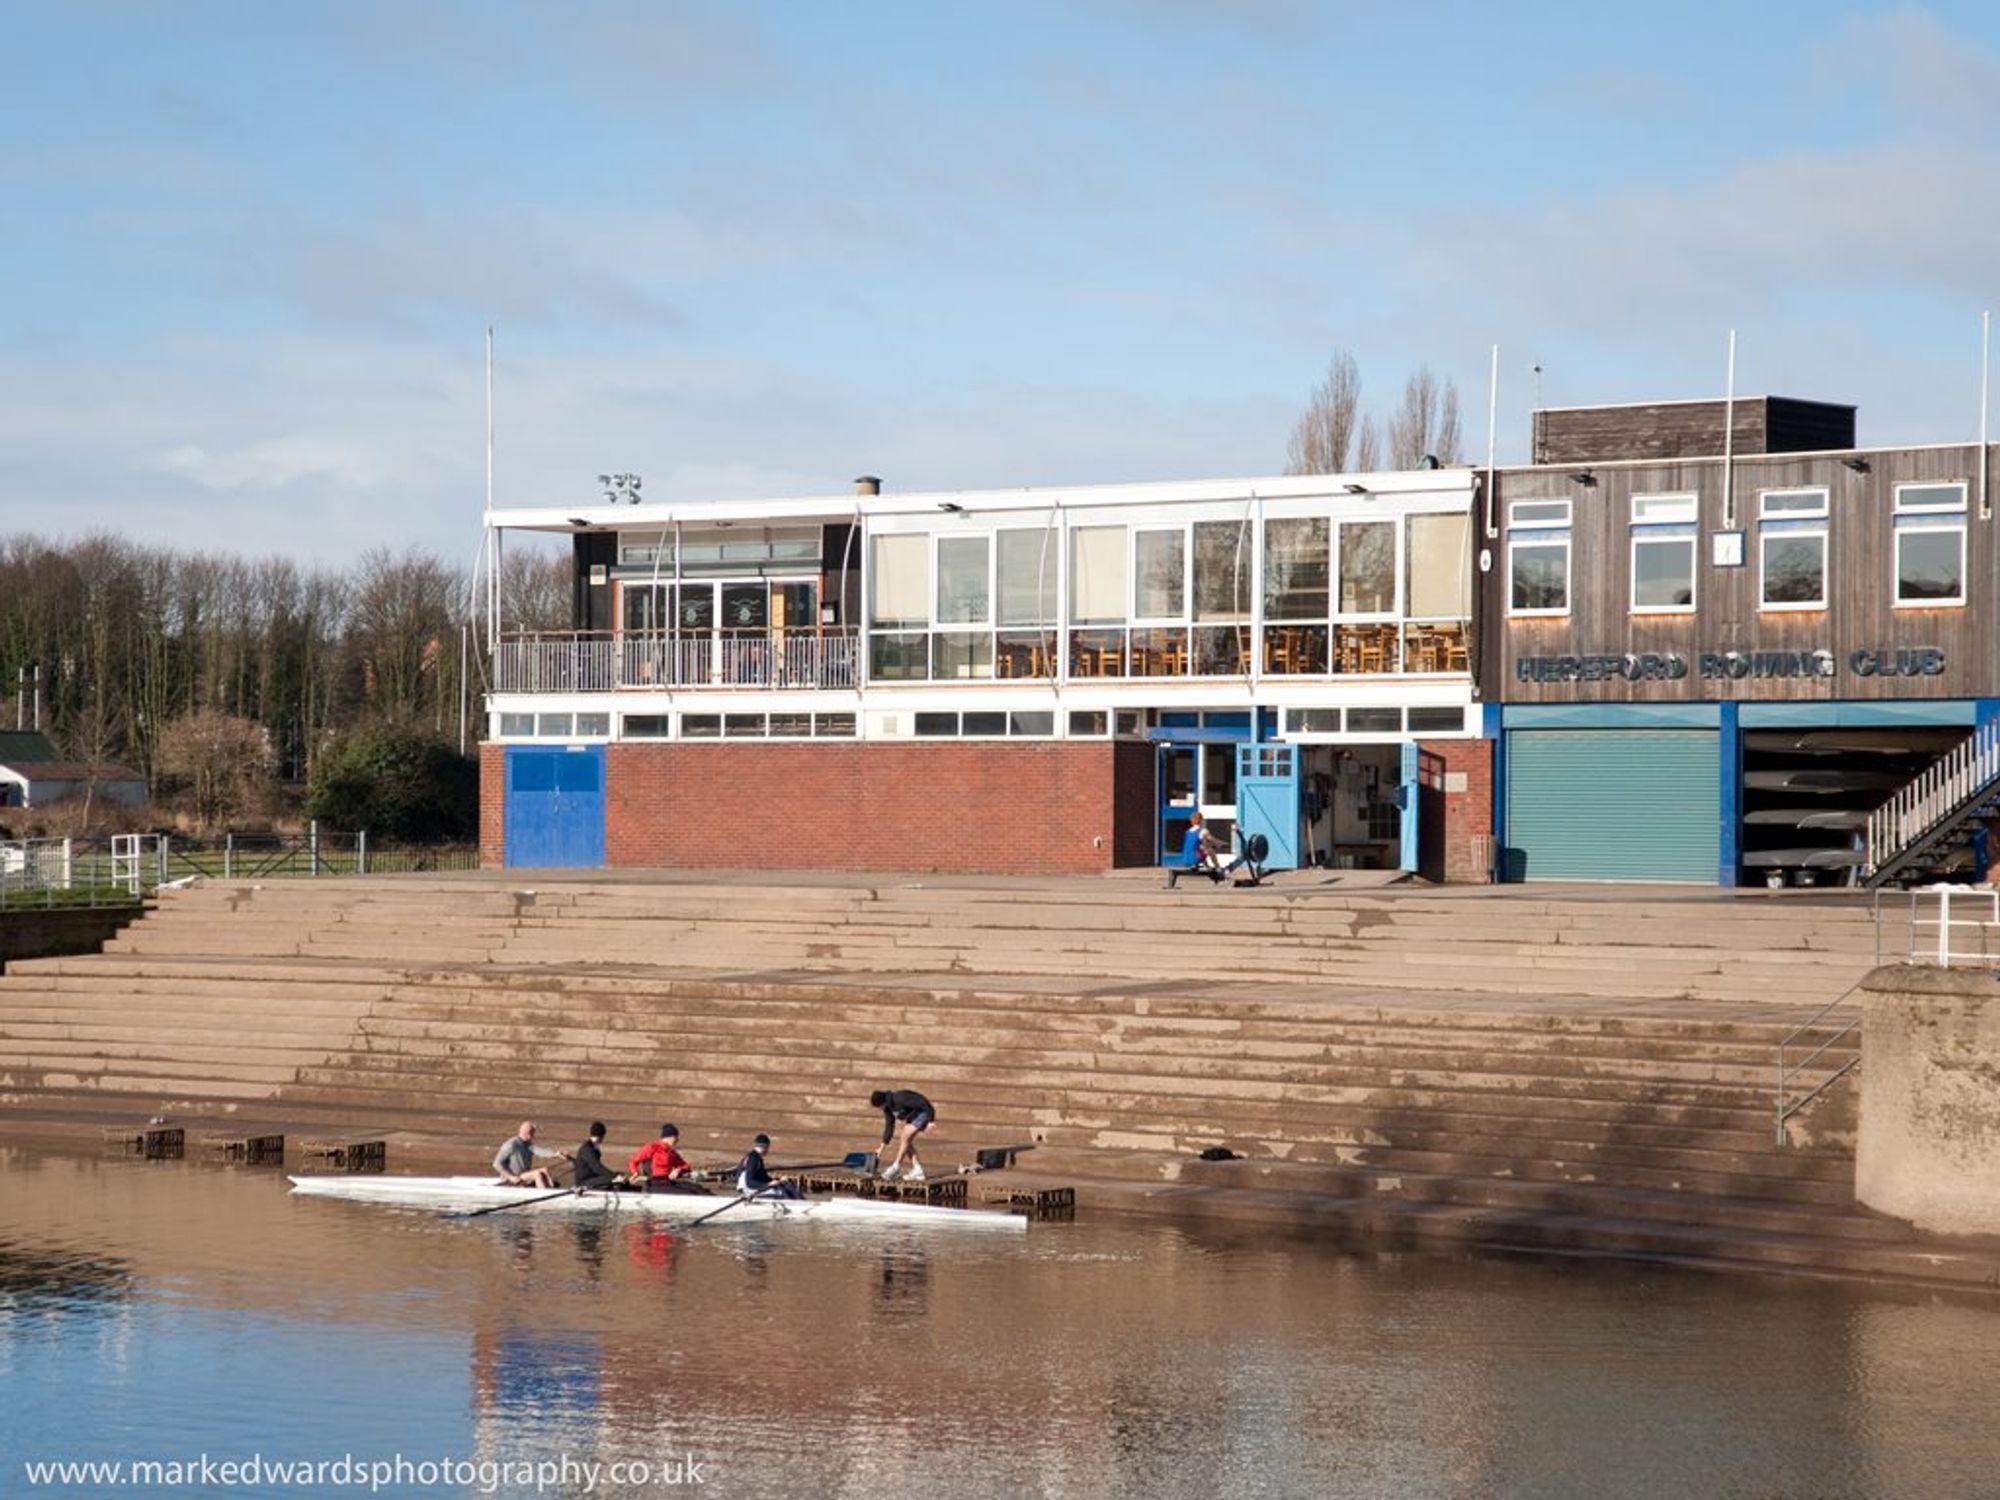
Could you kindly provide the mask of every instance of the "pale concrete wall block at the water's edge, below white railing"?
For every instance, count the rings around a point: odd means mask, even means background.
[[[2000,980],[1894,966],[1862,982],[1862,1204],[2000,1234]]]

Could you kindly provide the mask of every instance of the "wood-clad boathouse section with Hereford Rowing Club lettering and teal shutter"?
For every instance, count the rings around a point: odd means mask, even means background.
[[[1536,462],[1482,500],[1500,878],[1844,884],[1962,852],[2000,772],[1974,742],[2000,714],[1990,454],[1856,448],[1848,406],[1738,400],[1728,434],[1724,410],[1536,412]]]

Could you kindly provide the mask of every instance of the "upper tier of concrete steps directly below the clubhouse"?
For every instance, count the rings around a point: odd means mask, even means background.
[[[416,964],[1254,980],[1826,1002],[1874,964],[1850,902],[950,884],[212,882],[108,952]]]

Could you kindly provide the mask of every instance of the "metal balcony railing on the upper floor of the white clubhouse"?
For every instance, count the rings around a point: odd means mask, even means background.
[[[852,688],[860,682],[858,652],[850,632],[514,636],[500,642],[494,658],[494,690]]]

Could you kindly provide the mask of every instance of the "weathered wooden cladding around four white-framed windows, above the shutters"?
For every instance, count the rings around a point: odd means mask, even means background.
[[[1996,454],[2000,458],[2000,454]],[[1744,534],[1744,566],[1716,568],[1712,536],[1722,526],[1722,466],[1650,464],[1596,470],[1584,488],[1560,472],[1502,470],[1494,516],[1492,570],[1480,574],[1480,620],[1488,650],[1480,660],[1480,692],[1488,702],[1800,702],[1840,698],[1982,698],[2000,696],[2000,652],[1994,650],[2000,612],[1996,524],[1978,518],[1978,448],[1930,448],[1868,454],[1870,472],[1856,474],[1838,458],[1752,458],[1736,464],[1736,526]],[[1896,606],[1894,486],[1932,480],[1966,482],[1966,604],[1944,608]],[[1828,490],[1828,606],[1824,610],[1764,610],[1758,600],[1758,492]],[[1694,614],[1632,614],[1632,496],[1694,492],[1700,498],[1696,536]],[[1556,618],[1510,618],[1506,512],[1510,500],[1568,498],[1570,612]],[[1936,676],[1858,676],[1856,650],[1934,646],[1944,652]],[[1704,678],[1702,652],[1834,654],[1832,678]],[[1522,680],[1522,656],[1644,656],[1676,654],[1684,678],[1584,682]]]

